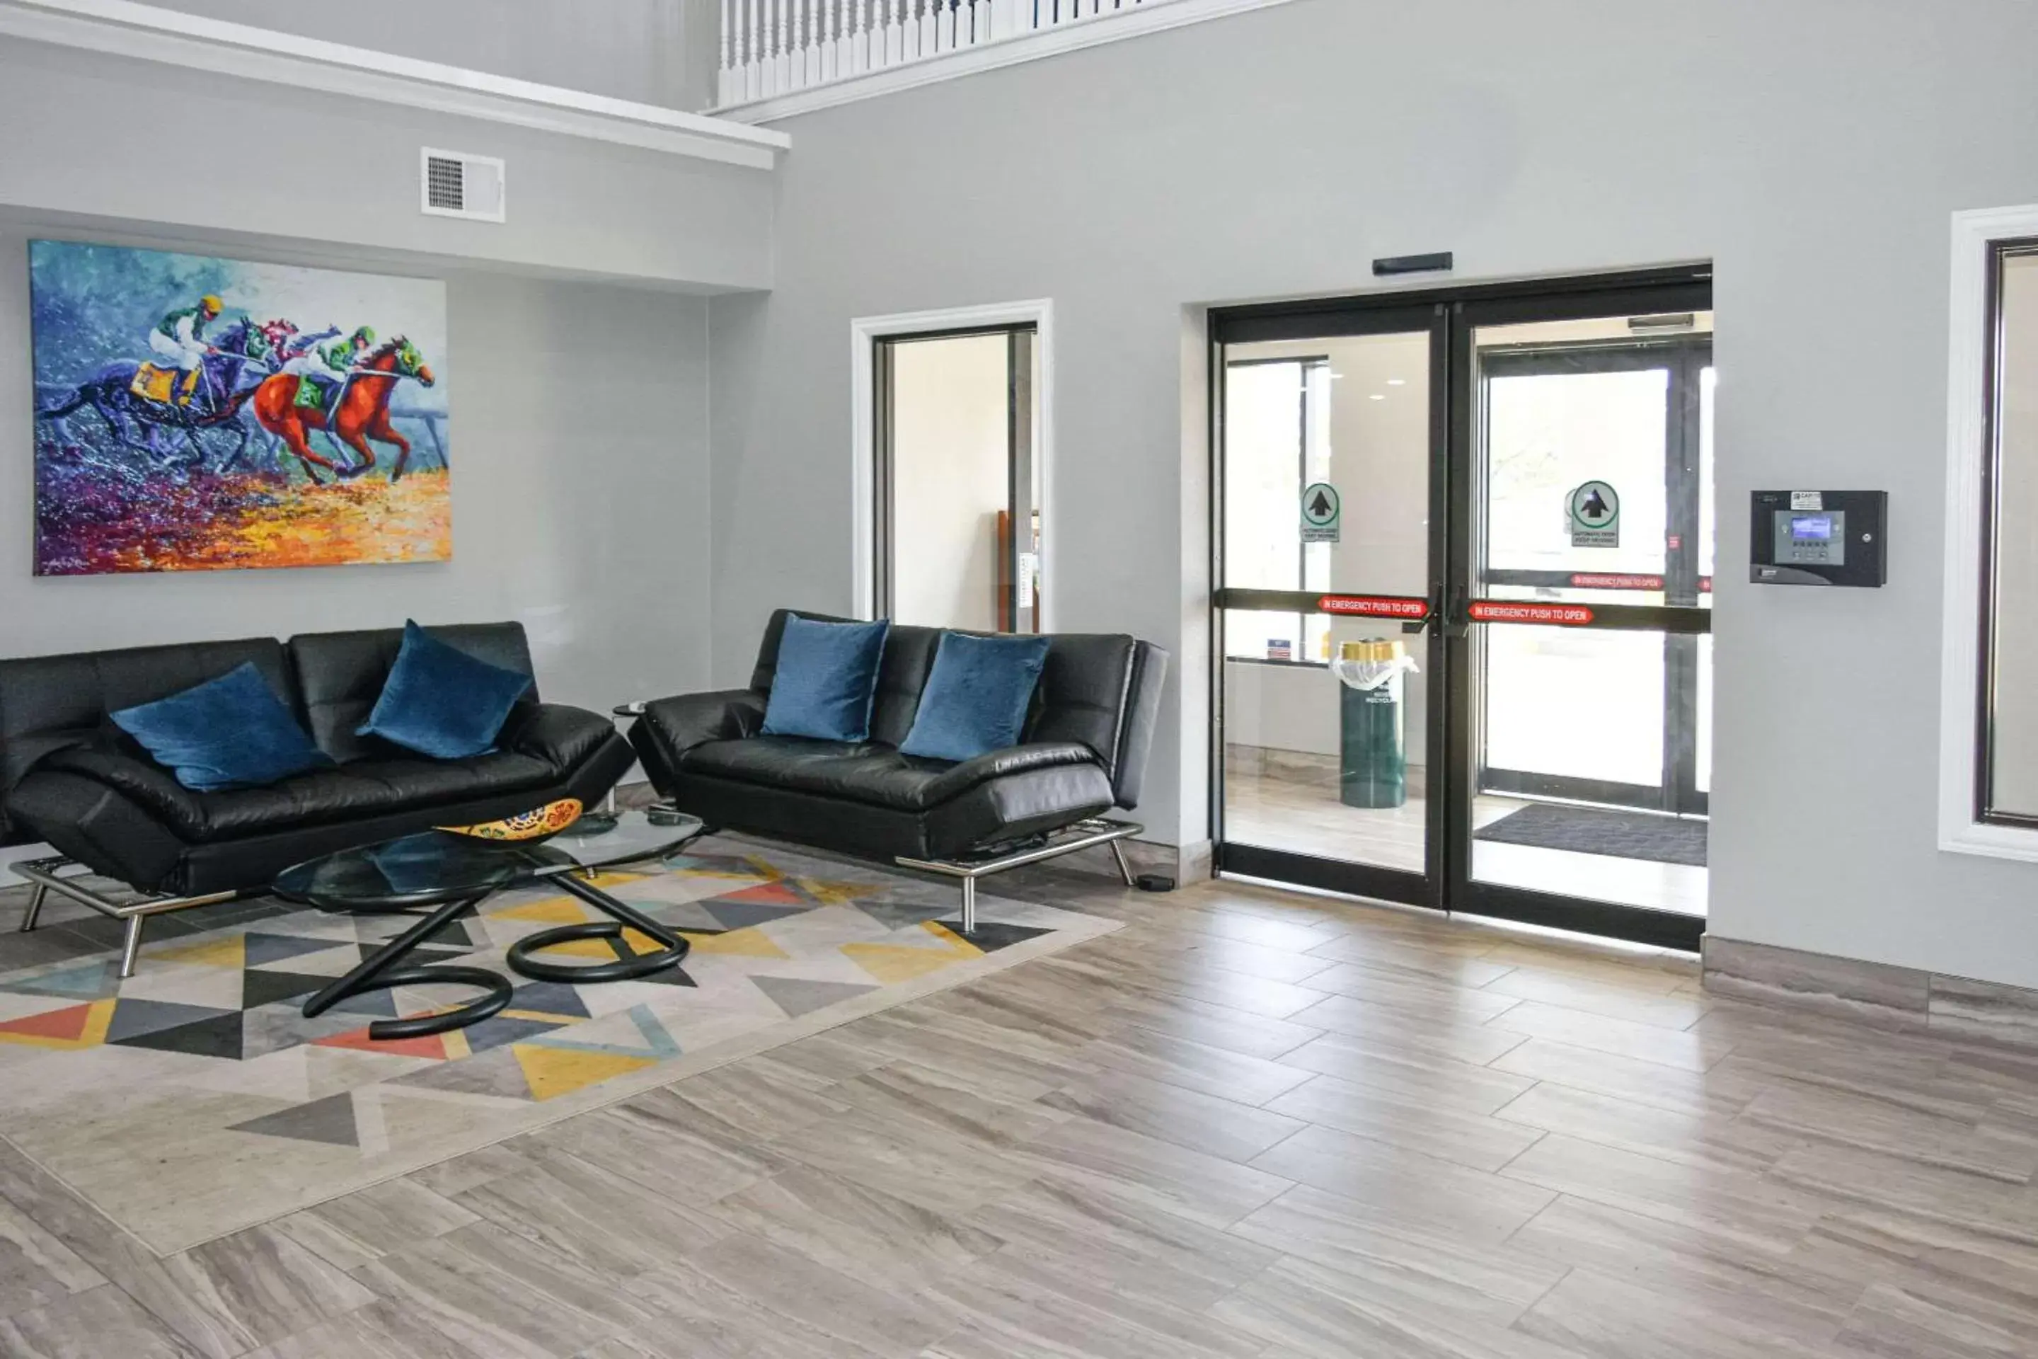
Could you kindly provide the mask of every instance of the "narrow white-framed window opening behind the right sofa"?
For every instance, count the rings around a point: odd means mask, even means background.
[[[858,324],[866,611],[925,628],[1039,632],[1045,318],[942,320]]]

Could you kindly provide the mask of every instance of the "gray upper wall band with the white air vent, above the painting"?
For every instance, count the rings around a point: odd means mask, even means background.
[[[770,283],[762,169],[12,39],[0,128],[0,206],[675,287]],[[505,157],[509,222],[420,212],[422,147]]]

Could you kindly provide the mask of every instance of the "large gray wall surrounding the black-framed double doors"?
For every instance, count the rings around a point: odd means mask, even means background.
[[[1052,603],[1186,658],[1143,811],[1196,839],[1184,308],[1714,259],[1720,560],[1755,487],[1893,495],[1883,591],[1722,564],[1714,927],[2038,984],[2038,868],[1934,848],[1930,664],[1946,216],[2038,198],[2034,49],[2026,0],[1300,0],[789,120],[776,291],[711,304],[719,678],[850,605],[850,318],[1054,297]]]

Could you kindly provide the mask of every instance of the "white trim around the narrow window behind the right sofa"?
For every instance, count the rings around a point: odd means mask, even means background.
[[[901,334],[931,330],[968,330],[972,326],[1025,326],[1035,334],[1039,359],[1039,630],[1054,626],[1054,599],[1060,575],[1054,568],[1054,300],[995,302],[974,308],[940,312],[899,312],[895,316],[860,316],[850,322],[850,599],[856,617],[876,613],[876,342]]]

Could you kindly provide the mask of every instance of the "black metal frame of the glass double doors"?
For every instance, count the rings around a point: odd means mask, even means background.
[[[1439,911],[1490,915],[1579,933],[1696,949],[1704,917],[1655,911],[1471,876],[1471,770],[1478,750],[1471,711],[1473,562],[1463,544],[1473,532],[1473,454],[1478,391],[1471,336],[1480,326],[1600,316],[1663,316],[1712,310],[1712,267],[1687,265],[1632,273],[1579,275],[1471,287],[1408,289],[1355,297],[1215,308],[1209,314],[1211,410],[1211,827],[1217,870],[1294,882],[1353,896],[1374,896]],[[1431,632],[1425,795],[1427,837],[1420,874],[1349,860],[1227,844],[1225,817],[1225,609],[1321,613],[1321,591],[1239,591],[1223,587],[1225,352],[1231,344],[1361,334],[1418,334],[1431,342],[1429,599],[1408,632]],[[1698,450],[1692,448],[1696,465]],[[1441,532],[1439,532],[1441,526]],[[1696,562],[1696,534],[1679,548]],[[1696,577],[1696,573],[1694,573]],[[1339,591],[1343,593],[1343,591]],[[1669,597],[1667,599],[1675,599]],[[1702,615],[1702,617],[1700,617]],[[1490,623],[1498,626],[1498,623]],[[1712,630],[1710,611],[1675,605],[1594,605],[1592,628],[1667,632],[1690,638]],[[1669,683],[1669,681],[1667,681]],[[1453,719],[1455,717],[1455,719]],[[1435,752],[1443,752],[1439,760]]]

